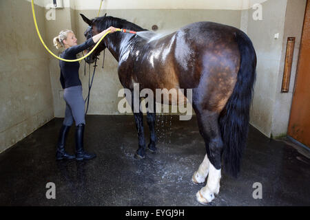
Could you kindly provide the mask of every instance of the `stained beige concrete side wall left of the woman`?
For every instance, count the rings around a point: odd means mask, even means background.
[[[44,10],[36,6],[45,39]],[[0,1],[0,152],[52,118],[48,54],[35,34],[27,1]]]

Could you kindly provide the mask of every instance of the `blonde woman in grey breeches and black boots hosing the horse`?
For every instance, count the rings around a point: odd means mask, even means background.
[[[63,30],[59,36],[54,38],[54,46],[59,49],[65,47],[65,51],[61,53],[61,58],[68,60],[76,59],[76,54],[86,50],[88,47],[96,44],[101,37],[110,30],[111,33],[116,31],[116,28],[110,27],[100,34],[93,36],[84,43],[77,45],[77,39],[72,30]],[[79,78],[80,64],[76,62],[59,61],[61,67],[61,86],[63,87],[63,98],[66,102],[65,119],[63,126],[59,133],[59,141],[56,152],[56,159],[92,159],[96,157],[95,154],[86,153],[83,148],[83,135],[85,127],[85,102],[82,93],[82,84]],[[70,155],[65,152],[65,139],[68,135],[70,126],[76,124],[75,142],[76,142],[76,155]]]

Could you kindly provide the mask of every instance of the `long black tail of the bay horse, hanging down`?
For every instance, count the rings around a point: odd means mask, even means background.
[[[249,37],[236,32],[240,50],[240,69],[231,97],[220,114],[220,131],[224,142],[224,168],[237,177],[240,171],[242,151],[247,142],[249,108],[256,80],[256,53]]]

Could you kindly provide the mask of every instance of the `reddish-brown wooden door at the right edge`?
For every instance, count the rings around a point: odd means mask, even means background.
[[[310,1],[307,1],[287,135],[310,148]]]

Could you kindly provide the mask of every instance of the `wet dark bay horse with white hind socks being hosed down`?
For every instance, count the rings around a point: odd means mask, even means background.
[[[83,21],[85,37],[114,26],[135,32],[138,25],[105,16]],[[249,108],[256,81],[256,52],[251,40],[238,28],[208,21],[196,22],[154,41],[138,34],[108,34],[90,57],[107,48],[118,61],[118,78],[124,88],[192,89],[192,107],[198,120],[206,154],[194,172],[194,184],[207,184],[196,193],[198,202],[211,202],[220,190],[222,168],[238,177],[249,128]],[[186,94],[185,94],[186,96]],[[132,102],[133,103],[133,102]],[[156,151],[156,112],[147,112],[148,149]],[[145,157],[143,113],[134,113],[138,132],[136,157]]]

